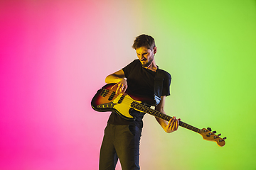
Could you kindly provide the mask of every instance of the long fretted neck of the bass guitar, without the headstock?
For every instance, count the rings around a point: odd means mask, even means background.
[[[147,106],[144,106],[141,103],[137,103],[136,101],[133,101],[131,106],[132,106],[132,108],[134,108],[134,109],[136,109],[138,111],[141,111],[143,113],[148,113],[149,115],[154,115],[154,117],[161,118],[161,119],[166,120],[168,122],[172,118],[169,115],[166,115],[164,113],[161,113],[159,111],[151,109],[151,108],[149,108]],[[181,120],[178,121],[178,125],[182,126],[183,128],[186,128],[188,130],[192,130],[194,132],[198,132],[198,133],[200,132],[200,129],[198,129],[196,127],[193,127],[192,125],[188,125],[187,123],[183,123]]]

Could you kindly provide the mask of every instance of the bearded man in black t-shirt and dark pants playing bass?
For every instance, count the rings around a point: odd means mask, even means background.
[[[117,94],[124,94],[129,89],[133,94],[154,98],[154,77],[159,69],[154,59],[156,54],[154,38],[149,35],[139,35],[132,47],[136,50],[139,59],[107,76],[105,82],[116,83],[114,86],[117,87]],[[166,96],[170,95],[171,75],[163,72],[161,101],[155,110],[165,114],[164,104]],[[100,170],[115,169],[118,158],[122,170],[139,169],[139,140],[142,134],[142,118],[145,113],[130,111],[130,114],[136,118],[134,121],[125,120],[117,113],[111,113],[100,149]],[[178,129],[176,117],[172,118],[169,123],[159,118],[156,120],[165,132],[170,133]]]

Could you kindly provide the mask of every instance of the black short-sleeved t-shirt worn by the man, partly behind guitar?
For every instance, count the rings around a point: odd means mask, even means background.
[[[137,94],[139,96],[145,96],[147,98],[154,98],[154,77],[156,72],[151,71],[150,69],[145,69],[142,67],[142,64],[139,60],[134,60],[126,67],[122,69],[124,71],[125,77],[127,78],[128,89],[132,94]],[[161,72],[161,77],[164,78],[163,90],[161,96],[170,95],[170,84],[171,84],[171,75],[164,71]],[[138,112],[139,113],[139,112]],[[108,123],[114,125],[137,125],[139,128],[142,128],[142,118],[145,113],[139,113],[136,115],[136,120],[129,121],[122,118],[117,113],[112,112]]]

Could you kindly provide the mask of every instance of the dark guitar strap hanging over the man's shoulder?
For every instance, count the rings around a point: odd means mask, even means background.
[[[154,100],[156,101],[156,105],[158,105],[161,101],[161,92],[163,90],[164,81],[164,78],[161,77],[162,72],[163,70],[156,69],[156,76],[154,78]]]

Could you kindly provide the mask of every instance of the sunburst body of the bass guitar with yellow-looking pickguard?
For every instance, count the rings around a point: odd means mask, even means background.
[[[127,91],[124,95],[115,94],[117,86],[115,84],[106,84],[102,89],[97,91],[97,94],[92,98],[91,106],[95,111],[106,112],[115,111],[122,118],[134,120],[134,117],[129,114],[129,110],[133,102],[147,103],[153,105],[154,99],[150,100],[142,96],[136,96]],[[114,86],[114,87],[113,87]],[[135,109],[137,110],[137,109]],[[139,111],[139,110],[137,110]]]

